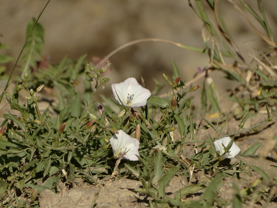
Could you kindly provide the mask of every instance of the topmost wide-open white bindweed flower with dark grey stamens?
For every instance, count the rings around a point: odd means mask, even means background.
[[[151,92],[143,88],[133,77],[126,79],[124,82],[112,84],[112,92],[119,103],[121,100],[125,106],[130,107],[146,105],[147,99],[151,95]]]

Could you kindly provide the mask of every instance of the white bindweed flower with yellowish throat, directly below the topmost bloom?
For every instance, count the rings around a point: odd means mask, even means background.
[[[123,159],[132,161],[139,159],[136,156],[139,155],[139,141],[133,137],[130,137],[124,131],[118,130],[118,134],[112,136],[110,143],[116,158],[120,158],[123,155]]]

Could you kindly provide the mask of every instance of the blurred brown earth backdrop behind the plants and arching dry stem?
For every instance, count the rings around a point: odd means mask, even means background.
[[[5,53],[17,58],[24,44],[27,22],[32,17],[37,18],[46,2],[0,0],[0,42],[10,47]],[[239,1],[234,2],[240,5]],[[258,11],[257,2],[246,2]],[[270,27],[276,34],[277,1],[266,0],[263,3]],[[265,44],[232,4],[221,0],[219,8],[246,58],[247,54],[257,54],[256,49],[269,50],[264,48]],[[206,9],[210,10],[208,5]],[[248,14],[247,11],[245,13]],[[214,21],[212,12],[210,15]],[[251,18],[250,15],[248,17]],[[255,19],[251,20],[256,23]],[[88,60],[92,60],[93,56],[102,58],[127,42],[144,38],[160,38],[204,48],[203,23],[186,0],[52,0],[39,22],[45,29],[43,54],[50,64],[59,63],[65,56],[78,59],[88,54]],[[255,26],[261,29],[259,24]],[[194,77],[198,67],[209,65],[207,54],[166,43],[139,43],[120,50],[110,58],[112,70],[106,77],[111,81],[104,93],[110,93],[112,83],[122,82],[128,77],[140,80],[141,76],[146,80],[146,88],[153,90],[153,78],[162,81],[162,73],[172,77],[171,59],[178,66],[181,79],[186,81]],[[230,60],[230,64],[232,62]],[[12,69],[12,64],[8,65],[8,70]],[[220,72],[213,72],[211,76],[219,93],[234,87],[235,83],[219,79],[223,77]],[[201,85],[202,82],[198,80],[193,85]]]

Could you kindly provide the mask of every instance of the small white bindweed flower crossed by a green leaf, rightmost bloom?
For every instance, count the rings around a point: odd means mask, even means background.
[[[216,151],[219,151],[219,155],[225,153],[224,147],[227,147],[231,140],[232,139],[229,136],[226,136],[214,141],[214,146],[216,147]],[[224,155],[224,158],[234,158],[239,152],[240,148],[233,142],[229,151]]]

